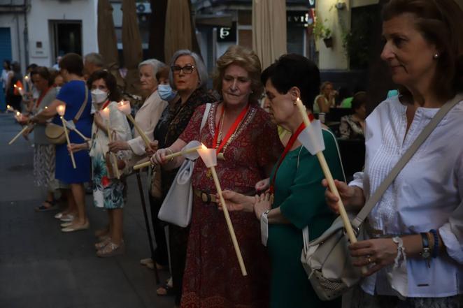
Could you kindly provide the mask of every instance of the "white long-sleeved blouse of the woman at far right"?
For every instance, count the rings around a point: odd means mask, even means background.
[[[418,108],[406,133],[406,106],[397,96],[388,98],[366,119],[366,156],[363,173],[351,186],[364,189],[366,200],[378,189],[400,157],[438,108]],[[421,145],[368,220],[372,228],[388,235],[439,230],[446,253],[432,258],[431,268],[422,258],[407,258],[406,297],[440,298],[463,294],[463,102],[455,105]],[[366,293],[395,295],[386,278],[392,266],[362,282]]]

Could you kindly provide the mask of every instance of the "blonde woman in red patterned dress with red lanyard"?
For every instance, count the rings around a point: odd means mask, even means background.
[[[211,105],[201,132],[206,105],[199,106],[180,138],[169,148],[159,149],[152,160],[165,168],[179,166],[182,159],[166,161],[165,155],[199,140],[218,149],[215,168],[222,189],[253,196],[255,184],[269,177],[283,150],[276,126],[257,104],[262,94],[260,73],[254,52],[229,47],[218,59],[214,76],[215,89],[223,101]],[[243,277],[224,214],[214,203],[213,178],[201,159],[194,166],[192,186],[195,196],[181,307],[268,307],[269,259],[260,244],[259,223],[251,214],[230,213],[248,270],[248,276]]]

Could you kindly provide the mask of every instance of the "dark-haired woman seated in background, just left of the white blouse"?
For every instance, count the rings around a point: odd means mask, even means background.
[[[366,92],[357,92],[352,98],[352,115],[341,117],[339,133],[343,139],[363,139],[365,134]]]

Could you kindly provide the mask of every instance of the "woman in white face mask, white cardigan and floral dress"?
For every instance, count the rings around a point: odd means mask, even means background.
[[[126,200],[126,183],[124,179],[117,179],[114,171],[108,170],[111,164],[108,153],[108,125],[112,138],[115,140],[131,139],[130,126],[127,117],[117,110],[117,101],[121,96],[117,90],[117,83],[108,71],[95,71],[87,80],[92,89],[92,101],[97,112],[94,115],[92,126],[92,140],[90,143],[71,144],[70,149],[77,152],[90,149],[93,173],[93,200],[94,205],[108,211],[109,233],[101,242],[95,244],[97,256],[109,257],[124,253],[124,240],[122,239],[122,208]],[[108,108],[109,121],[101,116],[101,110]],[[117,153],[117,165],[120,174],[123,173],[125,161],[130,158],[130,151]]]

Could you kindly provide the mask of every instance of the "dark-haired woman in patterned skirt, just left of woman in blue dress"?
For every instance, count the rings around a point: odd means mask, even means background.
[[[35,68],[31,71],[31,80],[39,94],[31,110],[36,114],[55,101],[57,92],[52,87],[53,81],[48,68]],[[46,123],[46,121],[38,122],[33,128],[24,132],[24,136],[27,136],[34,130],[34,181],[37,186],[47,189],[45,201],[35,209],[37,212],[55,209],[54,192],[57,189],[69,188],[55,179],[55,145],[50,144],[45,136]]]

